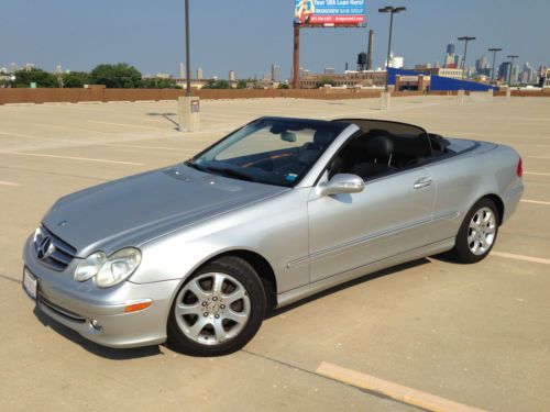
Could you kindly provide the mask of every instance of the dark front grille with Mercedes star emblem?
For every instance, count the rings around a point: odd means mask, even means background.
[[[36,259],[51,269],[62,271],[76,255],[76,248],[50,232],[44,225],[36,232],[33,241]]]

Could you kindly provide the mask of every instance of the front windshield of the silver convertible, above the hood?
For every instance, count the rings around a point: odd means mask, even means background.
[[[260,119],[186,165],[230,178],[294,187],[346,126],[326,121]]]

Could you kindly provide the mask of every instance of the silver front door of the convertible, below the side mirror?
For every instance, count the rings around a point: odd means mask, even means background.
[[[421,167],[366,181],[360,193],[308,200],[310,281],[426,245],[436,185]]]

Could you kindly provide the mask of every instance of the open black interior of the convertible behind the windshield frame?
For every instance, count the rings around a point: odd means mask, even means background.
[[[405,123],[342,119],[361,129],[332,159],[329,178],[353,174],[365,180],[429,163],[448,153],[449,142]]]

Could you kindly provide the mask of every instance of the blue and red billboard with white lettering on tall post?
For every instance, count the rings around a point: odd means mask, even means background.
[[[294,22],[338,26],[365,23],[365,0],[295,0]]]

